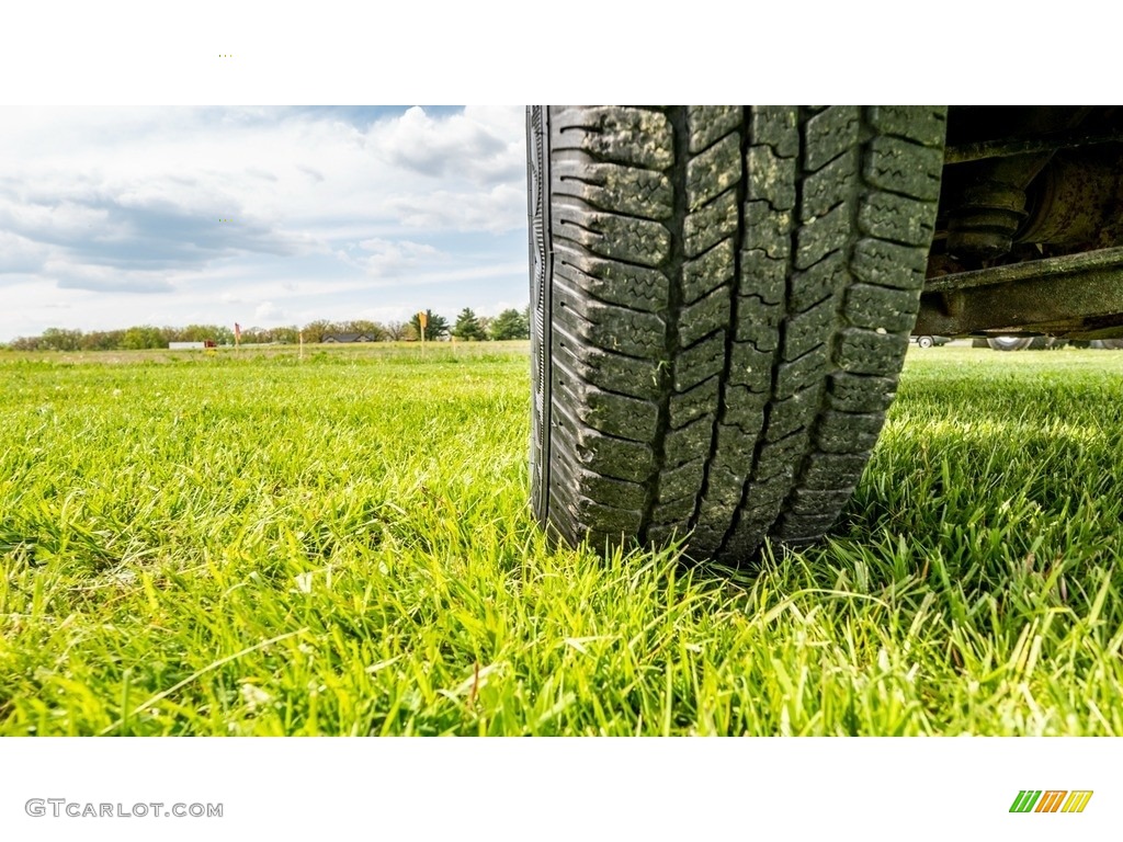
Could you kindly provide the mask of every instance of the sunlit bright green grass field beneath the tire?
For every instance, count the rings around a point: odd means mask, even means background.
[[[0,734],[1123,734],[1123,353],[911,350],[759,574],[550,548],[524,344],[0,354]]]

